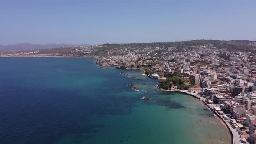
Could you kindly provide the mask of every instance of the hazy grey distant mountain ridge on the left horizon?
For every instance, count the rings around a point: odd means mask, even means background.
[[[11,52],[11,51],[23,51],[23,50],[35,50],[35,49],[52,49],[68,46],[78,46],[71,44],[31,44],[31,43],[19,43],[15,45],[0,45],[0,52]]]

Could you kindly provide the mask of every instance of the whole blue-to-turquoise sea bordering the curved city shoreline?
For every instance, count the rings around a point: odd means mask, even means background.
[[[2,143],[231,143],[227,129],[195,98],[160,92],[158,80],[141,71],[99,69],[94,60],[0,58]]]

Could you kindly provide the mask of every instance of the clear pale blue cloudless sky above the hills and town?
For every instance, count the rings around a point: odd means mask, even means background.
[[[256,0],[0,0],[0,45],[256,40]]]

